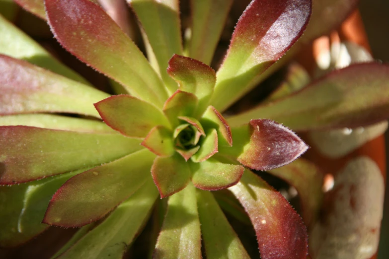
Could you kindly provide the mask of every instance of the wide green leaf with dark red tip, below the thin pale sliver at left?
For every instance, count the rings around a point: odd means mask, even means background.
[[[121,134],[3,126],[0,127],[0,185],[107,163],[143,148],[140,142]]]

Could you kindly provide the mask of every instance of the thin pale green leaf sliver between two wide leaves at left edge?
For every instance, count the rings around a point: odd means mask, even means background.
[[[91,133],[115,133],[102,122],[51,114],[18,114],[0,117],[0,126],[29,126]]]

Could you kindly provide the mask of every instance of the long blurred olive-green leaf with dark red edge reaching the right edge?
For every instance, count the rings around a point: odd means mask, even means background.
[[[293,130],[356,128],[389,117],[389,65],[365,63],[332,71],[286,98],[228,119],[268,118]]]

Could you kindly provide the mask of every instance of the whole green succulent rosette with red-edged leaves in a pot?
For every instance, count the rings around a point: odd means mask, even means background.
[[[304,219],[312,220],[311,201],[320,195],[315,189],[312,198],[304,183],[308,162],[276,170],[308,148],[291,129],[357,127],[389,115],[389,67],[369,63],[224,118],[300,38],[311,0],[252,0],[217,72],[209,64],[232,0],[191,1],[184,43],[177,0],[129,0],[149,61],[94,1],[17,2],[127,94],[89,86],[1,18],[0,31],[20,42],[0,45],[2,246],[22,244],[49,225],[81,227],[55,258],[121,258],[160,196],[166,212],[154,258],[248,258],[209,192],[229,188],[251,220],[262,258],[306,258],[303,220],[250,169],[294,184]]]

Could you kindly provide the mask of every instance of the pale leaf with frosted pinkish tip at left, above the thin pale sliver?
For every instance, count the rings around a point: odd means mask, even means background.
[[[108,94],[28,62],[0,55],[0,114],[60,112],[99,117]]]

